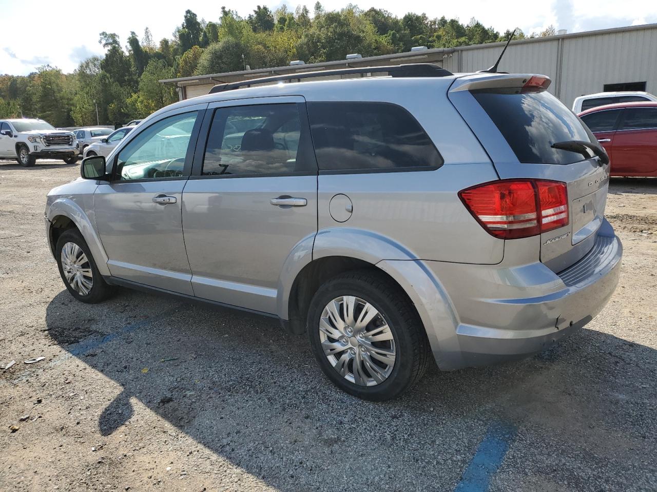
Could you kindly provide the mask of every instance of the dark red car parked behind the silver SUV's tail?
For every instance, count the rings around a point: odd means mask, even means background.
[[[657,176],[657,102],[608,104],[579,113],[612,163],[612,176]]]

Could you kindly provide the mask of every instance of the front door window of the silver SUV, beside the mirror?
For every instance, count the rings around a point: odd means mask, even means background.
[[[191,112],[170,116],[139,133],[119,152],[116,179],[183,176],[197,115],[198,112]]]

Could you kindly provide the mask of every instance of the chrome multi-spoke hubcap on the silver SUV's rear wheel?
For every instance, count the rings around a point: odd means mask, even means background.
[[[359,386],[376,386],[392,373],[395,338],[380,312],[361,298],[337,297],[327,304],[319,341],[338,374]]]

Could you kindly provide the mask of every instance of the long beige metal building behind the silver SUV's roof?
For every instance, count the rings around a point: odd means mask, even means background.
[[[207,94],[219,83],[328,68],[430,62],[455,73],[476,72],[493,65],[503,46],[504,43],[489,43],[448,49],[414,49],[367,58],[350,55],[349,60],[214,73],[160,82],[175,85],[180,98],[186,99]],[[569,107],[577,96],[593,92],[647,91],[657,94],[657,24],[512,41],[499,70],[548,75],[552,79],[549,91]]]

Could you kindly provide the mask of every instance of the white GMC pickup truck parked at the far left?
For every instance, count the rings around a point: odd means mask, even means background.
[[[0,119],[0,157],[28,167],[37,159],[62,159],[72,164],[78,154],[78,142],[69,131],[57,130],[42,119]]]

